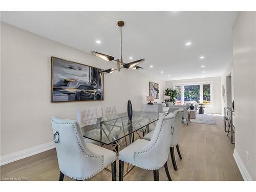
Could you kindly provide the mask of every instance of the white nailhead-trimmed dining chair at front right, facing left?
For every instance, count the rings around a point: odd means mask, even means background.
[[[172,181],[167,167],[171,129],[174,115],[161,116],[150,141],[138,139],[119,152],[119,181],[123,181],[123,163],[153,170],[154,180],[159,181],[159,168],[164,165],[169,181]]]

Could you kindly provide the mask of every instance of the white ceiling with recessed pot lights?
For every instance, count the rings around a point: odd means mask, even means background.
[[[82,51],[94,50],[115,58],[120,58],[117,21],[123,20],[124,62],[145,58],[140,72],[163,80],[220,76],[232,61],[236,16],[237,12],[211,11],[1,12],[5,23]],[[187,41],[192,45],[186,47]],[[201,55],[205,56],[202,60]]]

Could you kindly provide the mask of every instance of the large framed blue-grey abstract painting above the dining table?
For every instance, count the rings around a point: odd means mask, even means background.
[[[104,100],[101,69],[51,57],[51,102]]]

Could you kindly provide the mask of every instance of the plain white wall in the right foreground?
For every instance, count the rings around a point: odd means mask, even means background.
[[[240,163],[245,167],[242,168],[244,178],[255,181],[256,12],[239,12],[237,16],[233,26],[233,68],[236,120],[234,155],[239,156]],[[248,160],[246,151],[249,152]]]

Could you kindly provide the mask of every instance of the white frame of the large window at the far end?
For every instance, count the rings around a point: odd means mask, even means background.
[[[173,88],[181,86],[181,104],[184,104],[184,86],[200,86],[200,102],[203,101],[203,84],[210,84],[210,105],[204,105],[206,108],[214,107],[214,81],[184,82],[173,83]]]

